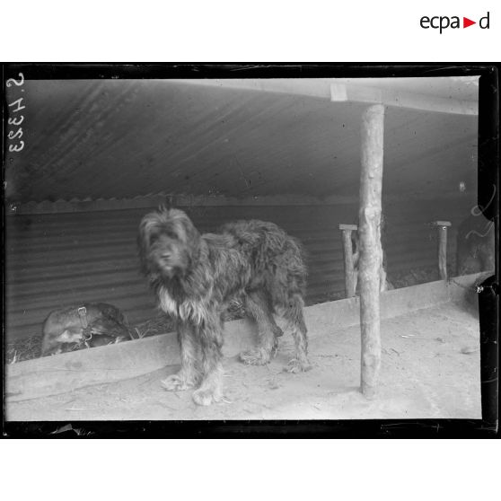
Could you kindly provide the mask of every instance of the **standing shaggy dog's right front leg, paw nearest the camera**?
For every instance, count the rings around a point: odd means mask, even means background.
[[[198,327],[200,339],[202,383],[193,392],[193,400],[198,405],[210,405],[223,399],[223,324],[214,315],[202,321]]]

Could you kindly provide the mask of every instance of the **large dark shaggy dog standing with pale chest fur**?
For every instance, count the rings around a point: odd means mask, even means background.
[[[181,367],[163,381],[166,390],[198,387],[193,400],[199,405],[222,399],[222,317],[228,303],[240,296],[259,332],[258,347],[243,352],[242,362],[264,365],[275,356],[282,335],[273,318],[277,313],[295,341],[295,356],[286,370],[311,368],[302,251],[276,224],[238,221],[201,235],[184,212],[160,207],[141,221],[138,244],[160,308],[177,321]]]

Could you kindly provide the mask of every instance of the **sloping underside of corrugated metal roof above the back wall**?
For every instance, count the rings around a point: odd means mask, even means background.
[[[397,80],[455,99],[476,93],[470,81]],[[169,80],[27,80],[23,90],[25,148],[6,163],[15,202],[358,190],[362,104]],[[385,192],[440,196],[474,179],[477,121],[388,109]]]

